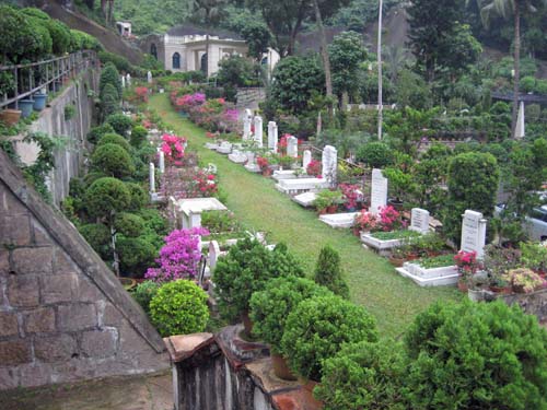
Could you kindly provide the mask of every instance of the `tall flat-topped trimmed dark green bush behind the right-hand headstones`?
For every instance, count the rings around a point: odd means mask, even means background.
[[[491,216],[500,172],[498,162],[488,153],[468,152],[456,155],[449,166],[449,198],[443,215],[443,230],[456,243],[466,209]]]

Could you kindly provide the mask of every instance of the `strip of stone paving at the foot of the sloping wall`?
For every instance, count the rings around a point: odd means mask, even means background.
[[[74,385],[0,391],[2,410],[173,410],[171,371]]]

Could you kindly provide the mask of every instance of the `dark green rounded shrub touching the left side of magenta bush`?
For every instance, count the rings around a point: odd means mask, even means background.
[[[158,257],[158,247],[148,241],[148,237],[116,238],[116,251],[119,255],[119,268],[125,276],[142,278],[147,269],[154,265]]]

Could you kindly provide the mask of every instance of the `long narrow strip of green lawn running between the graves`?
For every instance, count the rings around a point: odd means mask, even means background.
[[[289,197],[278,192],[274,180],[247,172],[226,156],[203,147],[205,131],[177,115],[165,94],[151,97],[170,128],[188,139],[203,163],[219,168],[220,186],[228,192],[226,206],[248,227],[268,233],[269,242],[286,242],[313,273],[315,259],[325,244],[340,253],[351,298],[365,306],[376,318],[385,336],[400,335],[414,316],[432,302],[443,298],[457,301],[455,288],[422,289],[399,277],[386,259],[362,248],[349,230],[335,231],[318,221],[314,212],[304,210]]]

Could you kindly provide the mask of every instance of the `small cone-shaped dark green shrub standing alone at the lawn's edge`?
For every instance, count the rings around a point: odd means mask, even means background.
[[[314,280],[338,296],[349,298],[349,288],[342,278],[340,255],[328,245],[324,246],[319,251]]]

